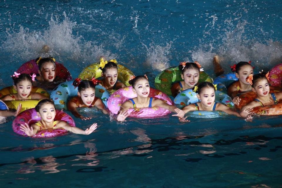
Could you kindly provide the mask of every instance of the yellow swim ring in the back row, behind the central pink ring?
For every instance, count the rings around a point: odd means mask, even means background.
[[[116,62],[115,60],[110,60],[110,61]],[[78,75],[78,78],[80,78],[81,80],[91,80],[92,78],[96,78],[96,79],[100,78],[102,70],[99,67],[100,67],[100,63],[93,63],[85,67]],[[123,65],[117,64],[117,80],[120,80],[126,86],[130,86],[128,81],[130,80],[131,76],[134,76],[131,70],[129,70]],[[112,90],[109,92],[113,93],[114,91],[116,90]]]

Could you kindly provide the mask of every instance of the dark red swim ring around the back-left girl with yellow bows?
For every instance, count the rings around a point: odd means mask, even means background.
[[[17,73],[26,73],[26,74],[38,74],[38,65],[35,59],[30,60],[24,64],[16,71]],[[73,78],[70,75],[68,69],[63,66],[61,63],[56,61],[56,76],[65,79],[65,80],[72,80]]]

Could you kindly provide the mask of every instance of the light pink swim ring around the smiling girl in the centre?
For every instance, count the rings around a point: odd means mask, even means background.
[[[122,103],[124,103],[130,98],[135,98],[135,97],[137,97],[137,95],[132,91],[132,86],[121,88],[110,96],[108,100],[108,108],[112,113],[117,114],[118,111],[120,110],[120,106],[122,105]],[[171,99],[160,90],[150,88],[149,97],[159,98],[164,102],[166,102],[167,104],[172,105]],[[130,108],[128,109],[128,113],[130,113],[129,115],[130,117],[145,118],[145,117],[164,116],[169,114],[170,111],[164,108],[160,108],[158,106],[154,106],[152,108],[135,108],[135,109]]]

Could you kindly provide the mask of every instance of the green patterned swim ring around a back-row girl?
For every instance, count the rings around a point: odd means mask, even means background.
[[[165,94],[171,96],[171,86],[174,82],[182,81],[181,78],[182,72],[178,69],[178,66],[171,67],[163,70],[157,77],[155,78],[155,87],[156,89],[164,92]],[[200,72],[199,82],[210,82],[212,83],[212,78],[205,73],[204,71]]]

